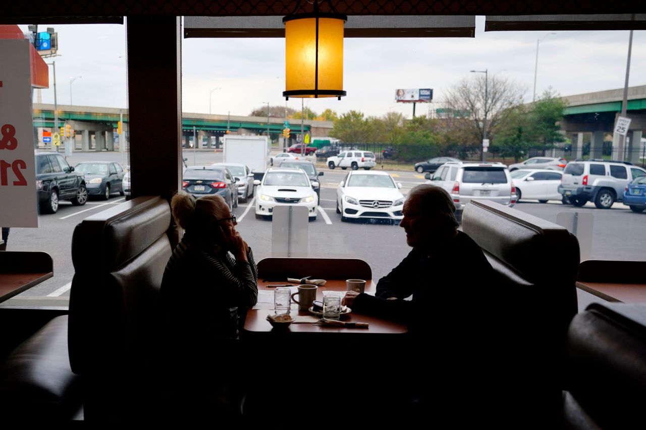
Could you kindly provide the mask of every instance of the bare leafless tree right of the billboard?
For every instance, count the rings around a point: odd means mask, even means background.
[[[446,108],[452,112],[449,127],[457,135],[468,136],[463,144],[479,145],[485,135],[494,138],[510,108],[520,105],[526,88],[508,78],[489,76],[464,77],[446,92]],[[486,121],[485,121],[486,118]]]

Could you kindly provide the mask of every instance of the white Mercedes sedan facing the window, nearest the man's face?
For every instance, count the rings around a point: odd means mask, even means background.
[[[404,218],[404,196],[401,183],[395,183],[388,172],[353,170],[339,183],[337,214],[348,218]]]

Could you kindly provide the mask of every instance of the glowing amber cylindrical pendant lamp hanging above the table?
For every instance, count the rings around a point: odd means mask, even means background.
[[[298,6],[297,6],[298,8]],[[348,17],[314,11],[291,14],[285,24],[286,82],[283,97],[339,97],[343,90],[343,26]],[[295,10],[296,12],[296,10]]]

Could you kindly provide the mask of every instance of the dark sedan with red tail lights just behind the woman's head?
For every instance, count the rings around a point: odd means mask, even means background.
[[[213,166],[190,166],[184,170],[182,189],[200,198],[219,194],[233,210],[238,207],[238,189],[229,169]]]

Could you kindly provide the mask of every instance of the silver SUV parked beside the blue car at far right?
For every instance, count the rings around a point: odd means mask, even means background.
[[[608,209],[623,199],[623,190],[632,179],[645,175],[646,170],[622,161],[570,161],[558,191],[565,204],[583,206],[592,201],[599,209]]]

